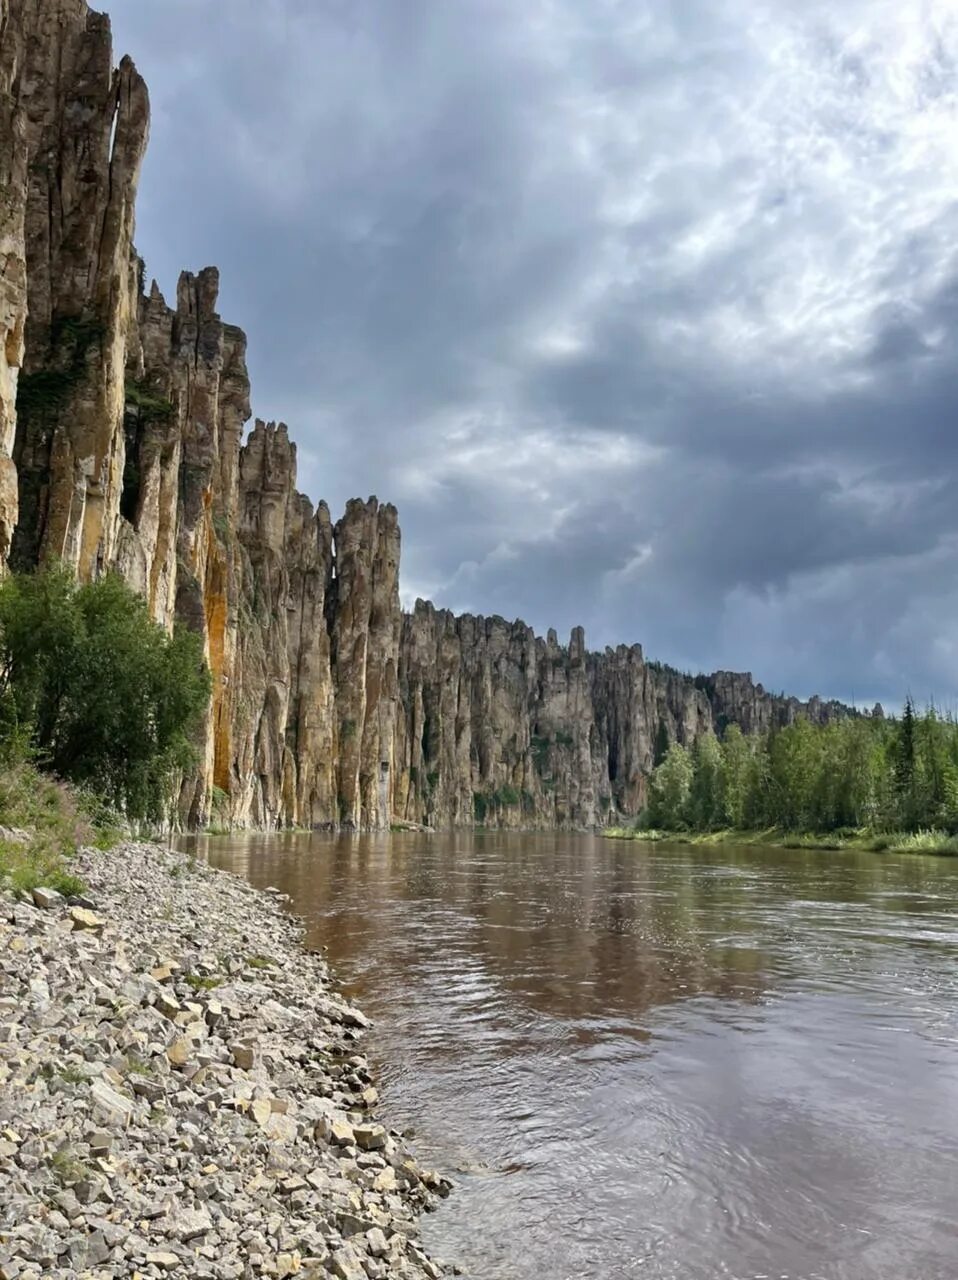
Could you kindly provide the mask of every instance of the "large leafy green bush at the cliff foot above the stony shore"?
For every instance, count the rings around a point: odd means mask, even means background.
[[[169,636],[119,577],[78,586],[58,567],[0,584],[4,727],[131,818],[163,815],[209,694],[199,637]]]

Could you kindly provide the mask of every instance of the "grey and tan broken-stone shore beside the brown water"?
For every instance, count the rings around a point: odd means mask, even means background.
[[[282,895],[156,845],[0,892],[0,1280],[437,1280],[450,1184],[375,1119]]]

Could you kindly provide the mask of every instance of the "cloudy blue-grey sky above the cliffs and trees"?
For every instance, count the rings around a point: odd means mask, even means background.
[[[405,603],[954,704],[954,0],[108,6],[147,271]]]

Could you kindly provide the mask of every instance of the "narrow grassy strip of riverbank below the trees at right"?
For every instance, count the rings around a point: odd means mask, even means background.
[[[841,831],[798,832],[768,827],[765,831],[643,831],[610,827],[607,840],[639,840],[645,844],[669,841],[674,845],[765,845],[770,849],[858,850],[871,854],[936,854],[958,856],[958,836],[946,831]]]

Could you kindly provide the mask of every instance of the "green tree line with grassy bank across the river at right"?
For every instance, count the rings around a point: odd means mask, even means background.
[[[958,854],[958,723],[909,699],[899,718],[663,744],[639,822],[607,835]]]

